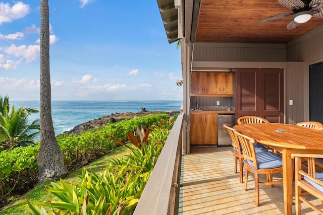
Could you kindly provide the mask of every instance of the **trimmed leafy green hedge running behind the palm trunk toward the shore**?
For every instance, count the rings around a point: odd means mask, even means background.
[[[116,123],[108,123],[98,130],[89,130],[81,134],[62,134],[57,137],[64,155],[67,169],[96,160],[119,147],[107,136],[127,141],[127,131],[135,131],[137,125],[147,127],[160,118],[168,119],[168,114],[155,114]],[[0,153],[0,197],[1,204],[8,203],[11,196],[22,194],[37,183],[37,156],[39,145],[16,148]],[[1,206],[1,205],[0,205]]]

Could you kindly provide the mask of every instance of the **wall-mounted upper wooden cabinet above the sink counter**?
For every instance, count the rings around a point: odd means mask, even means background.
[[[193,72],[192,96],[233,96],[233,73]]]

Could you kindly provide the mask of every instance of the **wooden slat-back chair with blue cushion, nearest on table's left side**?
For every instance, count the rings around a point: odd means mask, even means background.
[[[234,131],[243,149],[243,167],[245,169],[245,179],[243,189],[247,189],[248,173],[254,174],[255,183],[255,205],[259,206],[259,185],[271,185],[282,183],[283,179],[273,181],[274,173],[283,172],[282,157],[272,152],[255,152],[254,139]],[[259,175],[266,175],[266,182],[259,182]]]

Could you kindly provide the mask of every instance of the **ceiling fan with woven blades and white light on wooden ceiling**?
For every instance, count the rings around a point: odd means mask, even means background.
[[[323,0],[278,0],[278,2],[289,9],[293,13],[278,14],[272,17],[259,20],[258,23],[279,20],[284,17],[292,16],[292,19],[287,24],[287,29],[296,28],[299,24],[305,23],[314,18],[323,18]]]

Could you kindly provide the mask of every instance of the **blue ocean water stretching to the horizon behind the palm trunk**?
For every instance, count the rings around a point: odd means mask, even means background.
[[[11,101],[15,108],[34,108],[40,110],[39,101]],[[55,134],[73,129],[84,122],[111,115],[112,113],[138,112],[141,108],[153,110],[180,110],[182,101],[51,101],[51,114]],[[39,118],[33,113],[28,120]]]

